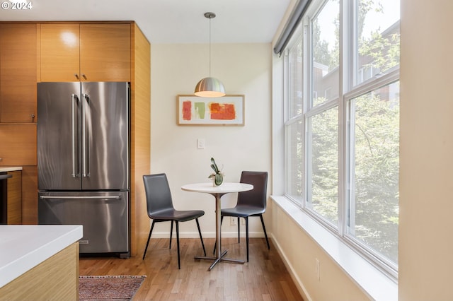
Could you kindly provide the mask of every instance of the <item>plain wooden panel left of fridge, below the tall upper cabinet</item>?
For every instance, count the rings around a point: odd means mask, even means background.
[[[36,124],[0,124],[0,166],[36,165]]]

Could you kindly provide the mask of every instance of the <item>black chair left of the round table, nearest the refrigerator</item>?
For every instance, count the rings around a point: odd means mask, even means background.
[[[156,174],[156,175],[144,175],[143,176],[144,189],[147,195],[147,211],[148,216],[153,220],[151,224],[151,229],[149,230],[149,236],[147,241],[147,247],[144,248],[143,259],[147,254],[149,239],[151,238],[151,233],[153,232],[154,223],[159,222],[168,222],[171,221],[171,230],[170,230],[170,249],[171,249],[171,236],[173,234],[173,222],[176,223],[176,244],[178,245],[178,268],[180,267],[180,257],[179,257],[179,222],[186,222],[188,220],[193,220],[197,222],[198,233],[200,234],[201,245],[203,247],[203,252],[205,252],[205,244],[203,243],[203,238],[200,231],[200,223],[198,223],[198,218],[205,214],[205,211],[202,210],[188,210],[188,211],[178,211],[173,207],[173,201],[171,199],[171,191],[168,186],[168,180],[166,174]]]

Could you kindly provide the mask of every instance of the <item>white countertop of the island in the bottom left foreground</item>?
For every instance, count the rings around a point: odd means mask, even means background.
[[[82,236],[81,225],[0,225],[0,288]]]

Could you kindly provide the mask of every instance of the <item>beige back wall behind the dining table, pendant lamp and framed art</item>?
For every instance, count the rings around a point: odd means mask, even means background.
[[[176,208],[205,211],[200,219],[205,237],[215,235],[214,197],[180,187],[209,181],[211,157],[224,166],[225,182],[238,182],[242,170],[270,172],[270,64],[270,44],[212,45],[211,75],[224,83],[227,94],[245,95],[245,126],[178,126],[176,95],[193,93],[197,82],[209,76],[209,45],[153,45],[151,172],[167,174]],[[204,150],[197,149],[197,138],[205,138]],[[224,196],[222,205],[234,205],[234,196]],[[168,237],[169,230],[169,223],[163,223],[154,231],[156,237]],[[224,237],[237,232],[229,220],[222,230]],[[195,223],[182,223],[180,232],[181,237],[197,237]],[[251,219],[250,232],[261,235],[259,218]]]

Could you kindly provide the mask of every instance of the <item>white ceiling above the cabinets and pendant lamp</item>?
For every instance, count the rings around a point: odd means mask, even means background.
[[[11,9],[31,1],[32,8]],[[271,42],[294,0],[2,0],[2,21],[134,20],[151,44]],[[3,7],[3,6],[2,6]]]

